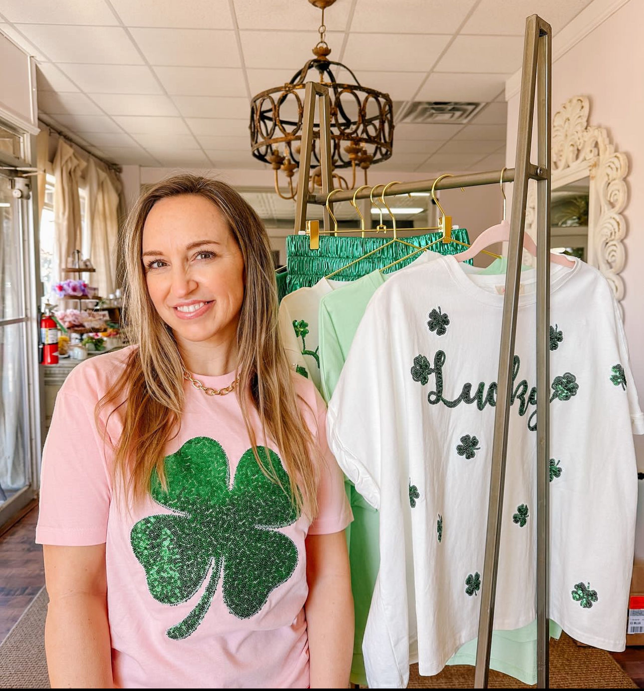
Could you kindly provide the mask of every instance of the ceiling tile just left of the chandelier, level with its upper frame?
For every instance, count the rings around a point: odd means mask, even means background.
[[[246,96],[242,70],[222,67],[155,67],[171,96]]]

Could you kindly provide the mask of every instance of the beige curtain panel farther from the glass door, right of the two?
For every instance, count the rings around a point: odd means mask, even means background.
[[[98,294],[107,298],[117,287],[116,246],[120,180],[102,163],[90,157],[85,182],[88,249],[96,269],[92,285],[98,286]]]

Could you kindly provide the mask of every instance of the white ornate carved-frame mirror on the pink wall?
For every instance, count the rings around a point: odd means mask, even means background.
[[[588,98],[575,96],[553,117],[551,247],[565,247],[597,267],[621,300],[628,160],[616,153],[605,129],[588,126],[588,115]],[[526,230],[533,237],[534,224],[531,190]]]

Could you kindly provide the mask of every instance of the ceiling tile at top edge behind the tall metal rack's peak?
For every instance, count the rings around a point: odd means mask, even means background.
[[[591,0],[482,0],[461,32],[523,36],[526,17],[536,13],[547,18],[555,35],[590,3]]]

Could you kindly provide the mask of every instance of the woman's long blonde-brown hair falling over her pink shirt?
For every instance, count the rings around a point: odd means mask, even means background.
[[[312,519],[318,509],[318,464],[277,329],[277,288],[268,235],[255,211],[232,187],[202,176],[182,173],[152,185],[131,210],[122,234],[124,313],[129,339],[138,348],[96,408],[97,418],[110,404],[125,408],[113,473],[134,502],[149,493],[154,471],[165,486],[165,446],[181,427],[183,364],[172,330],[150,299],[141,258],[143,226],[151,208],[161,199],[179,195],[212,202],[239,245],[246,285],[237,328],[240,378],[235,393],[261,470],[279,484],[268,452],[262,458],[257,452],[251,408],[259,415],[262,443],[273,439],[279,449],[291,485],[284,491],[290,491],[294,506]]]

